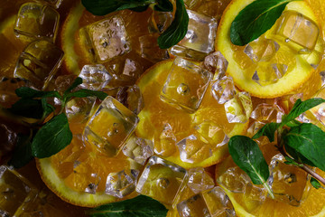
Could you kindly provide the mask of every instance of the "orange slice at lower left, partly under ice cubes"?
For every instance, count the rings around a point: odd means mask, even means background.
[[[83,128],[74,127],[71,123],[70,127],[74,135],[79,135]],[[122,152],[114,158],[107,157],[93,146],[83,145],[80,135],[74,136],[70,145],[58,154],[36,159],[36,165],[43,182],[53,193],[68,203],[84,207],[96,207],[120,200],[105,193],[107,175],[133,166]],[[136,193],[131,193],[124,199],[135,195]]]

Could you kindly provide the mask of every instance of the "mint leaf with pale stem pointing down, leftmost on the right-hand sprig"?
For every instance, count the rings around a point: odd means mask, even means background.
[[[270,175],[265,158],[257,143],[250,137],[231,137],[228,143],[229,154],[234,162],[245,171],[253,184],[263,184],[270,196],[274,194],[266,180]]]

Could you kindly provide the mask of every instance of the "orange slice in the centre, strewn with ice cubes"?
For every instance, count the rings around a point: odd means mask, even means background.
[[[209,150],[201,148],[200,144],[191,145],[190,148],[195,153],[192,158],[200,159],[189,163],[181,160],[179,149],[175,145],[176,141],[181,141],[181,139],[192,134],[197,135],[195,128],[200,125],[202,129],[200,135],[204,137],[204,134],[207,133],[204,132],[206,130],[204,125],[218,123],[218,126],[223,128],[223,132],[217,133],[212,138],[213,142],[217,141],[215,144],[218,144],[223,141],[225,133],[228,137],[244,134],[248,123],[228,123],[224,106],[219,105],[217,100],[213,98],[210,87],[202,99],[200,108],[193,114],[175,109],[170,104],[163,102],[160,99],[160,94],[172,62],[173,60],[159,62],[145,71],[140,80],[138,80],[137,85],[144,97],[144,109],[138,115],[140,122],[136,127],[135,133],[138,137],[153,140],[156,153],[177,165],[185,168],[214,165],[228,155],[227,145],[212,149],[212,156],[209,156]],[[164,131],[166,128],[169,131]]]

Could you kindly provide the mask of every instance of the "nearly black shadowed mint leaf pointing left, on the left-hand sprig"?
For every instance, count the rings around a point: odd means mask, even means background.
[[[42,118],[44,112],[41,99],[26,98],[19,99],[8,110],[17,116],[36,119]]]

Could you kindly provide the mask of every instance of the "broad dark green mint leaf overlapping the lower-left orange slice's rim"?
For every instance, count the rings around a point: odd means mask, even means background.
[[[72,140],[68,118],[60,114],[47,122],[32,140],[32,156],[49,157],[60,152]]]

